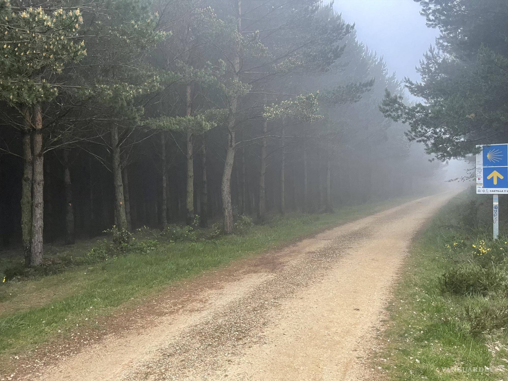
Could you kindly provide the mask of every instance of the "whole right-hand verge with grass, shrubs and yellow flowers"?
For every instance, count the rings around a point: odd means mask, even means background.
[[[455,197],[414,243],[376,354],[382,379],[506,379],[507,221],[493,242],[492,198],[473,192]]]

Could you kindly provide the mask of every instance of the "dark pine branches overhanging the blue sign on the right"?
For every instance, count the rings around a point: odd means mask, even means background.
[[[405,79],[423,103],[404,102],[387,91],[380,110],[409,125],[410,140],[438,160],[475,153],[477,144],[508,141],[506,70],[508,3],[502,0],[422,0],[427,24],[441,31],[437,48],[424,55],[422,82]]]

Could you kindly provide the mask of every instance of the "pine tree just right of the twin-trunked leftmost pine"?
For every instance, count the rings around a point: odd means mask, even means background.
[[[144,57],[167,34],[157,30],[158,17],[152,13],[150,3],[117,0],[103,7],[107,13],[96,14],[86,25],[90,35],[88,57],[79,68],[77,81],[81,81],[81,107],[86,107],[90,118],[96,120],[98,141],[109,156],[103,155],[102,160],[109,163],[113,175],[116,227],[129,230],[123,157],[125,147],[139,141],[137,133],[144,114],[141,100],[160,90],[164,80]]]

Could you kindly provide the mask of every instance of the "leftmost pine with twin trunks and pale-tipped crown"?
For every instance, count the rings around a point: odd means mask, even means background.
[[[79,8],[24,8],[0,1],[0,98],[24,121],[21,209],[27,267],[43,261],[43,110],[57,97],[66,65],[86,55],[78,35],[82,23]]]

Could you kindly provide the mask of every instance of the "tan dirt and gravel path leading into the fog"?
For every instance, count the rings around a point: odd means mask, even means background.
[[[168,312],[143,329],[23,378],[371,380],[362,358],[411,238],[451,196],[412,201],[196,279],[187,285],[192,297],[164,299],[159,309]]]

